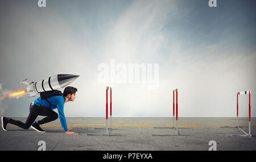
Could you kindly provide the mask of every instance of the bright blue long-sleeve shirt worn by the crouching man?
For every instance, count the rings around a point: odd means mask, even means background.
[[[68,131],[68,126],[67,126],[67,121],[65,118],[64,114],[64,104],[65,104],[65,99],[63,96],[52,96],[47,99],[51,104],[57,106],[57,110],[59,112],[59,117],[60,117],[60,123],[61,126],[65,131]],[[43,106],[45,108],[49,109],[56,109],[55,106],[50,105],[46,100],[42,100],[41,97],[38,97],[35,101],[34,104],[38,106]]]

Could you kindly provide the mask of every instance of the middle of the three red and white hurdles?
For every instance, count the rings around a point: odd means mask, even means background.
[[[173,127],[154,127],[155,129],[174,129],[174,134],[152,134],[152,135],[179,135],[177,130],[177,122],[178,122],[178,103],[177,103],[177,91],[178,89],[174,89],[172,91],[173,93],[173,104],[172,104],[172,112],[173,112],[173,119],[174,119],[174,125]],[[175,117],[175,92],[176,92],[176,117]],[[175,119],[176,119],[176,126],[175,126]]]

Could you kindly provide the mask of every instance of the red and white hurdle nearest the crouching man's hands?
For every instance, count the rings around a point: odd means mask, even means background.
[[[106,130],[106,133],[105,134],[81,134],[81,135],[110,135],[110,132],[112,131],[112,87],[110,87],[110,128],[108,128],[108,118],[109,118],[108,90],[109,90],[109,87],[106,87],[106,128],[92,128],[93,130]]]

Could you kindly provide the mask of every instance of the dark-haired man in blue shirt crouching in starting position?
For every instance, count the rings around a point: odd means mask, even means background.
[[[6,125],[7,123],[11,123],[23,129],[28,129],[29,127],[31,127],[32,129],[40,133],[45,133],[45,131],[40,127],[40,125],[54,121],[58,117],[60,117],[60,123],[65,133],[69,135],[78,135],[73,131],[69,131],[72,128],[67,126],[67,121],[63,110],[65,103],[68,103],[69,101],[74,101],[76,99],[76,92],[77,88],[69,86],[64,89],[63,95],[61,96],[52,96],[49,97],[47,100],[38,97],[34,102],[30,104],[30,114],[28,114],[27,121],[25,123],[18,120],[14,120],[12,118],[1,117],[2,129],[7,131]],[[59,112],[59,115],[53,111],[53,109],[56,108]],[[46,117],[42,120],[35,121],[36,117],[38,116]]]

